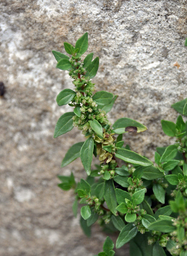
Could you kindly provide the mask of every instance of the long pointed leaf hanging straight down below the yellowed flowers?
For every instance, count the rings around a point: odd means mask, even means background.
[[[94,141],[92,137],[89,137],[83,144],[81,148],[81,161],[83,163],[83,167],[87,173],[87,175],[90,175],[91,172],[91,162],[93,158],[93,148],[94,148]]]

